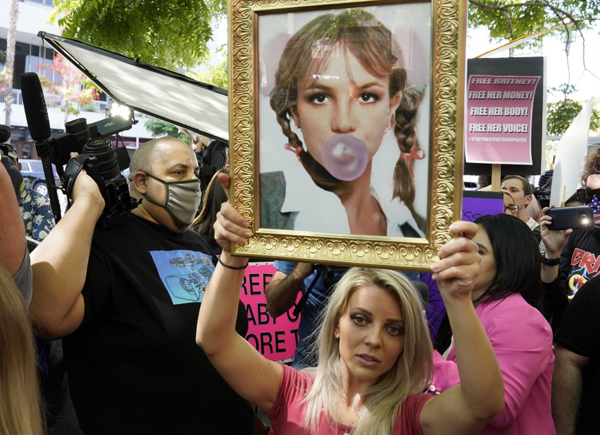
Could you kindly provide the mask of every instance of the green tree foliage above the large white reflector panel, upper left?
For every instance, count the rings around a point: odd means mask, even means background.
[[[195,67],[225,0],[54,0],[63,36],[168,70]]]

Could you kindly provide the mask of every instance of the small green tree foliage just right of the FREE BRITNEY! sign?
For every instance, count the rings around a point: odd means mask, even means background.
[[[554,94],[562,94],[563,98],[555,103],[548,103],[547,131],[553,136],[564,134],[569,125],[573,122],[577,114],[581,112],[582,106],[575,100],[571,100],[570,94],[575,92],[573,85],[560,85],[558,88],[549,89]],[[600,128],[600,114],[597,110],[592,110],[590,120],[590,130],[598,131]]]

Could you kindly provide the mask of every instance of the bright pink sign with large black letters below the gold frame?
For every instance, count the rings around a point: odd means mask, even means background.
[[[293,317],[293,308],[277,319],[267,312],[265,287],[276,270],[271,263],[250,263],[244,275],[240,299],[246,306],[248,317],[246,340],[271,361],[288,361],[293,359],[298,343],[300,317]]]

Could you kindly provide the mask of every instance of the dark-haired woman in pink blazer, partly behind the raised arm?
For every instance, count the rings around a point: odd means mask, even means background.
[[[540,253],[533,233],[509,215],[476,220],[481,273],[471,297],[496,352],[504,381],[504,412],[480,434],[555,434],[551,414],[552,330],[540,312]],[[460,382],[449,323],[434,344],[431,390]]]

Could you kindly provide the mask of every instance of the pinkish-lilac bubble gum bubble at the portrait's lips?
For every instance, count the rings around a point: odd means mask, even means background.
[[[351,134],[335,134],[327,139],[321,157],[325,169],[342,181],[359,178],[368,163],[366,146]]]

